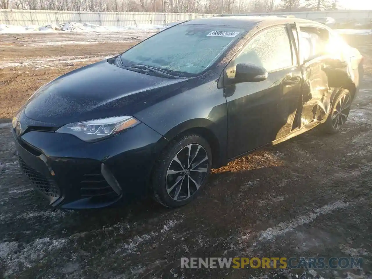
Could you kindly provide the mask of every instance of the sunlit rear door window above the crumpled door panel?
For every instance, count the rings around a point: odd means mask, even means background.
[[[328,37],[328,31],[324,29],[301,28],[299,33],[301,61],[325,54]]]

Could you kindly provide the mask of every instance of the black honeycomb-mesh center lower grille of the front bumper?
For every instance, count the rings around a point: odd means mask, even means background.
[[[23,159],[18,156],[19,165],[28,179],[35,185],[44,195],[51,197],[52,201],[61,196],[60,189],[55,183],[45,177],[43,174],[29,167]]]

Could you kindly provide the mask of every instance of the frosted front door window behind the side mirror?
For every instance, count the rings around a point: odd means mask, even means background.
[[[260,33],[235,57],[235,65],[249,62],[267,71],[292,66],[292,52],[286,28],[274,28]]]

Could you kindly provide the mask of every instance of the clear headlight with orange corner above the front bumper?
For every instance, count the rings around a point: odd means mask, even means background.
[[[116,135],[139,124],[132,116],[117,116],[64,125],[56,133],[71,134],[83,141],[96,141]]]

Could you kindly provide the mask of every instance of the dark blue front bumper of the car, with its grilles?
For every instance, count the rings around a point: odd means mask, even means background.
[[[13,129],[13,137],[23,173],[51,206],[64,209],[102,208],[147,193],[152,166],[167,144],[143,123],[94,143],[32,129],[21,137]]]

